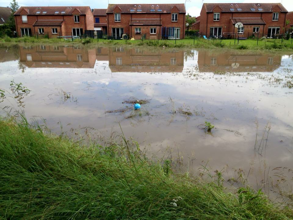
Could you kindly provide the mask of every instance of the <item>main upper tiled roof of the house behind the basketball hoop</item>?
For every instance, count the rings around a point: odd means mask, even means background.
[[[272,12],[274,6],[279,6],[281,12],[288,12],[281,3],[204,3],[206,12],[212,12],[212,10],[219,6],[222,12]],[[241,11],[238,10],[241,9]],[[254,11],[251,11],[251,8]],[[234,9],[231,11],[230,9]],[[262,9],[262,10],[259,10]]]

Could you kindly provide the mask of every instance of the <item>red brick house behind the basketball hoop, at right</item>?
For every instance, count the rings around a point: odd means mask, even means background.
[[[204,3],[201,9],[200,34],[233,37],[240,28],[242,37],[259,33],[268,38],[284,34],[287,10],[280,3]]]

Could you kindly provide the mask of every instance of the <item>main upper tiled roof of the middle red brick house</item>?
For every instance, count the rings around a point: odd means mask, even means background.
[[[186,13],[184,4],[109,4],[106,13],[113,13],[116,6],[121,9],[121,13],[170,13],[175,6],[179,13]],[[154,11],[151,12],[151,9],[154,9]],[[130,10],[134,11],[131,12]]]

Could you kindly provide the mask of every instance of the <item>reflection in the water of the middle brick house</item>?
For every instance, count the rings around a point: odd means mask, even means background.
[[[178,49],[109,48],[112,72],[182,72],[184,52]]]

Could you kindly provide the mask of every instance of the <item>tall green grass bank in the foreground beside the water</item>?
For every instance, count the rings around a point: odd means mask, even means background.
[[[0,120],[2,219],[290,219],[262,193],[172,175],[113,145],[80,146]],[[166,163],[168,165],[168,163]]]

